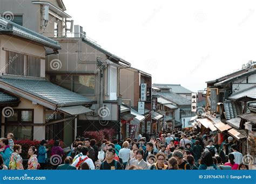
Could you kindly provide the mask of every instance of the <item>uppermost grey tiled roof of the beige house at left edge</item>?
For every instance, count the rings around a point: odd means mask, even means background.
[[[10,20],[4,19],[2,17],[0,17],[0,32],[6,32],[6,34],[12,34],[32,41],[36,41],[37,43],[41,43],[50,48],[60,49],[58,41],[45,37],[42,34],[38,34],[35,31],[26,29],[25,27],[15,24]]]

